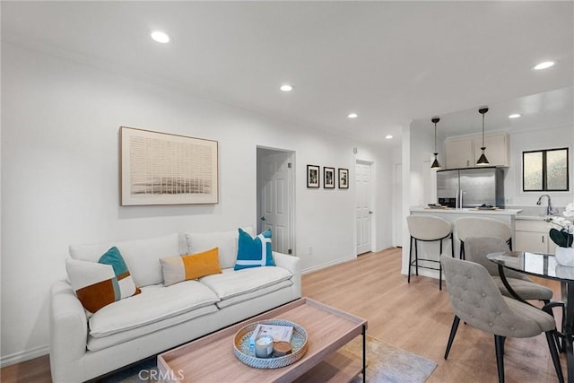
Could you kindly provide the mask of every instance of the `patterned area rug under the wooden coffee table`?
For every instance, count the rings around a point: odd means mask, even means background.
[[[346,344],[342,353],[353,358],[362,358],[362,338],[358,336]],[[437,363],[422,356],[401,350],[391,344],[379,341],[367,335],[367,381],[372,383],[419,383],[429,378]],[[154,372],[155,371],[155,372]],[[156,382],[157,368],[155,358],[140,361],[125,370],[96,380],[105,383]],[[352,383],[362,381],[362,375]],[[199,382],[202,383],[202,382]],[[208,382],[206,382],[208,383]],[[211,383],[211,382],[209,382]],[[224,383],[224,382],[219,382]]]

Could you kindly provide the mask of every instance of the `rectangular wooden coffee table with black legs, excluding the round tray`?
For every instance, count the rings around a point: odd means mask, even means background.
[[[293,364],[279,369],[249,367],[233,353],[233,338],[243,326],[262,319],[285,319],[303,326],[309,349]],[[367,321],[317,300],[301,298],[237,325],[158,355],[160,378],[172,382],[348,382],[365,379]],[[337,351],[362,335],[362,361]]]

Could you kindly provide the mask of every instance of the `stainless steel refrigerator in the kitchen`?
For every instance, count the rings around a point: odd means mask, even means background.
[[[437,197],[450,207],[504,207],[504,170],[495,167],[437,171]]]

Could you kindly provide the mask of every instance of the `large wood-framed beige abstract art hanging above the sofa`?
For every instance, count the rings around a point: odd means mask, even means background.
[[[217,204],[218,143],[120,127],[121,205]]]

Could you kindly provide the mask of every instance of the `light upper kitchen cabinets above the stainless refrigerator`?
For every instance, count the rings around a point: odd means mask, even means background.
[[[510,165],[510,139],[507,133],[484,135],[486,158],[489,166]],[[445,141],[447,169],[472,168],[481,156],[483,135],[448,138]]]

